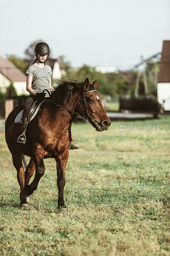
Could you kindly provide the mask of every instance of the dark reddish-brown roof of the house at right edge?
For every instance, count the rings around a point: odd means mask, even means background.
[[[170,40],[163,41],[158,83],[170,83]]]

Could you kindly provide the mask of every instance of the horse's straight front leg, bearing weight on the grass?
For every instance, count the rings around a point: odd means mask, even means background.
[[[66,184],[65,167],[66,167],[67,160],[68,160],[68,154],[69,154],[68,150],[66,150],[62,154],[57,155],[55,157],[56,166],[57,166],[57,186],[58,186],[58,190],[59,190],[58,208],[60,208],[60,206],[63,208],[67,208],[64,205],[63,192],[64,192],[64,186]]]

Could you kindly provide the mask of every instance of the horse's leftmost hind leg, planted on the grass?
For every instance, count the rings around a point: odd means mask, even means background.
[[[11,150],[11,154],[12,154],[12,161],[13,161],[13,165],[14,167],[17,169],[17,179],[18,179],[18,183],[21,189],[20,192],[20,206],[28,206],[28,203],[26,202],[26,197],[22,194],[22,190],[24,188],[24,182],[25,182],[25,174],[24,174],[24,169],[23,169],[23,164],[22,164],[22,158],[23,158],[23,154],[17,149],[15,148],[14,150]]]

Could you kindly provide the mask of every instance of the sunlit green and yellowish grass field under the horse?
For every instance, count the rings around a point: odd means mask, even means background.
[[[119,131],[119,125],[159,125]],[[0,255],[170,255],[170,116],[115,121],[106,132],[73,124],[78,150],[69,151],[66,209],[57,210],[56,165],[19,207],[17,173],[0,132]],[[27,157],[27,162],[29,158]]]

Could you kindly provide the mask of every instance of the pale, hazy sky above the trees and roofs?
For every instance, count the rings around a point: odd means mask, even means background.
[[[33,41],[73,67],[130,69],[170,40],[169,0],[2,1],[0,54],[25,57]]]

